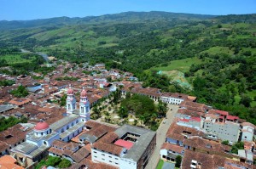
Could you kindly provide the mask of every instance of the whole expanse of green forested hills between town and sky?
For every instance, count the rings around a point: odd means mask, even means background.
[[[145,87],[190,93],[199,102],[256,124],[256,14],[127,12],[1,21],[0,30],[2,60],[5,54],[25,48],[76,63],[103,62],[108,68],[135,73]],[[166,76],[151,71],[168,70],[172,60],[188,58],[193,64],[175,69],[191,88],[174,82],[169,71]]]

